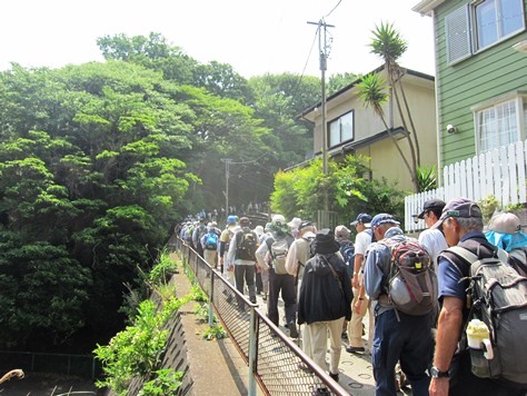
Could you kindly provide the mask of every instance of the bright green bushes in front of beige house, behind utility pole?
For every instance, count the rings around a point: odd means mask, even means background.
[[[328,176],[322,174],[320,159],[287,172],[278,172],[272,209],[291,218],[316,219],[328,195],[328,209],[338,215],[340,224],[349,224],[359,212],[391,212],[404,216],[404,191],[386,180],[369,180],[366,158],[347,156],[340,162],[329,162]]]

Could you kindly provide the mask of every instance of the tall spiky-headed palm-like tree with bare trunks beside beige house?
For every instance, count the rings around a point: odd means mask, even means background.
[[[391,23],[381,23],[380,26],[376,26],[372,34],[374,39],[371,40],[369,47],[371,48],[372,53],[379,56],[385,61],[385,70],[388,76],[388,88],[395,99],[402,128],[405,129],[405,132],[408,133],[406,142],[408,143],[410,151],[410,160],[408,161],[405,158],[398,145],[396,145],[396,147],[401,156],[401,159],[405,161],[405,165],[407,168],[409,168],[409,175],[414,185],[414,190],[415,192],[418,192],[418,167],[420,166],[419,141],[402,86],[402,77],[406,71],[397,63],[397,60],[402,56],[402,53],[405,53],[407,43]],[[382,85],[384,80],[380,78],[374,79],[371,77],[365,77],[362,79],[362,83],[359,85],[359,96],[367,106],[374,108],[374,111],[379,117],[381,117],[382,122],[385,126],[387,126],[381,111],[381,105],[387,100],[387,97],[379,93],[382,91]],[[390,129],[388,127],[387,131],[391,136]],[[391,138],[395,142],[394,137]]]

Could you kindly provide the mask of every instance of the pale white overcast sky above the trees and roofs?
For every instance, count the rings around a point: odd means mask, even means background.
[[[392,22],[408,42],[399,63],[434,75],[430,17],[419,0],[2,0],[0,70],[103,61],[97,38],[162,34],[206,63],[229,63],[246,78],[291,72],[320,76],[317,24],[327,24],[326,76],[366,73],[371,30]]]

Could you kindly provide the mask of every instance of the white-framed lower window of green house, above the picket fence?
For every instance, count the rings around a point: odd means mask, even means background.
[[[515,98],[476,111],[479,152],[486,152],[521,140],[525,132],[523,98]],[[521,125],[524,126],[521,127]]]

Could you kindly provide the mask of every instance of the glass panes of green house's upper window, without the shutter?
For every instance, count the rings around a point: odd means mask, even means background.
[[[475,4],[477,49],[524,29],[523,0],[484,0]]]

